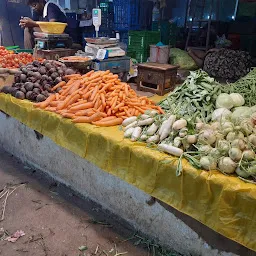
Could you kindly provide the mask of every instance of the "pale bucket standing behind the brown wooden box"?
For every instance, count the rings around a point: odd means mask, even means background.
[[[150,45],[150,62],[167,64],[169,60],[170,48],[168,45],[156,46]]]

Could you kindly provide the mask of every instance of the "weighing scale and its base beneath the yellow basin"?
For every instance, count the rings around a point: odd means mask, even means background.
[[[47,34],[34,32],[36,46],[34,56],[49,60],[58,60],[61,57],[74,55],[72,38],[68,34]]]

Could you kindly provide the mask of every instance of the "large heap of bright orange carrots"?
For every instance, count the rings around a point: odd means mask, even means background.
[[[74,123],[92,123],[97,126],[115,126],[131,116],[143,114],[148,109],[163,113],[159,106],[147,97],[139,97],[127,83],[110,71],[90,71],[85,75],[73,74],[65,77],[51,94],[35,107],[55,112]]]

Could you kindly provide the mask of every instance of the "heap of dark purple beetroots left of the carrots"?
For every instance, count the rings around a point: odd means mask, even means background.
[[[12,86],[4,86],[2,92],[12,94],[18,99],[28,99],[41,102],[46,100],[52,88],[64,79],[65,75],[74,74],[75,71],[67,68],[63,63],[46,60],[42,63],[33,61],[21,66],[15,74],[15,82]]]

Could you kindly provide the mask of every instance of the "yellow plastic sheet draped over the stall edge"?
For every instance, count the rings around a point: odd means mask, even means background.
[[[75,125],[4,94],[0,94],[0,109],[104,171],[256,251],[256,185],[217,171],[196,170],[186,161],[183,175],[176,177],[177,159],[124,139],[119,127]]]

